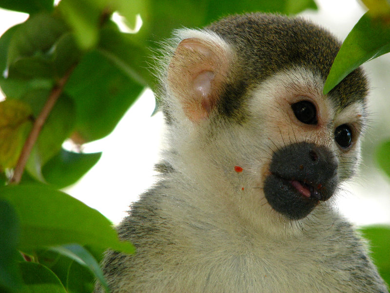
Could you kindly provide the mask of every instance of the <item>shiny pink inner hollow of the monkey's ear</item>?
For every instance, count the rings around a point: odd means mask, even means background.
[[[213,104],[212,99],[212,82],[215,74],[213,71],[203,71],[198,74],[193,80],[192,86],[196,98],[201,101],[203,109],[207,112],[206,116],[211,111]]]

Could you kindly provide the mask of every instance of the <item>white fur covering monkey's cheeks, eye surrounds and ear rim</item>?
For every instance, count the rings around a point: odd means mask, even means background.
[[[179,42],[181,38],[189,37],[203,38],[206,42],[217,44],[221,52],[234,58],[229,45],[215,34],[196,30],[178,33]],[[225,76],[223,80],[228,78]],[[180,97],[180,92],[185,93],[185,90],[181,90],[180,86],[172,89],[170,83],[167,84],[166,98],[169,100],[166,104],[175,120],[170,127],[168,141],[175,152],[169,151],[164,157],[176,170],[194,181],[200,190],[204,190],[199,193],[215,196],[206,199],[200,196],[199,202],[210,207],[215,205],[215,200],[221,200],[234,209],[234,213],[239,213],[240,220],[248,221],[264,231],[274,233],[274,228],[279,230],[277,227],[282,227],[280,231],[284,233],[287,221],[272,210],[262,189],[273,152],[278,148],[298,142],[326,146],[340,163],[340,180],[350,177],[350,170],[354,169],[351,165],[357,164],[364,106],[351,104],[339,111],[337,105],[332,103],[334,99],[323,96],[322,79],[306,69],[281,71],[254,87],[247,94],[245,107],[249,119],[244,125],[226,123],[213,115],[197,122],[188,119],[186,113],[182,112],[183,98]],[[188,93],[182,96],[187,99]],[[302,100],[316,106],[317,125],[305,125],[294,116],[291,105]],[[217,114],[214,112],[214,115]],[[334,129],[344,123],[348,123],[354,132],[353,144],[348,150],[342,150],[334,141]],[[212,137],[210,133],[213,133]],[[242,167],[243,171],[236,172],[235,166]],[[329,209],[330,206],[328,201],[317,208]],[[270,229],[270,225],[273,229]]]

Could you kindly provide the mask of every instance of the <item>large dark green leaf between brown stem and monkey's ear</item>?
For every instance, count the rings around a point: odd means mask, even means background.
[[[75,131],[84,142],[108,135],[142,88],[98,52],[86,54],[65,86],[76,104]]]

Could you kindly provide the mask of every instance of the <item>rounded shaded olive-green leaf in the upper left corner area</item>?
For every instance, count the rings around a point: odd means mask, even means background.
[[[50,55],[50,50],[67,30],[66,25],[50,14],[40,13],[20,24],[13,33],[8,48],[8,65],[25,57]]]

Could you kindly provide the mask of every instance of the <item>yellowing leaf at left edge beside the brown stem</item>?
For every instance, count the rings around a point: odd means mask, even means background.
[[[0,103],[0,170],[15,167],[31,129],[31,109],[17,100]]]

